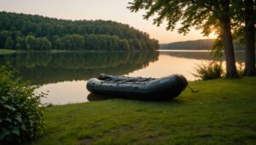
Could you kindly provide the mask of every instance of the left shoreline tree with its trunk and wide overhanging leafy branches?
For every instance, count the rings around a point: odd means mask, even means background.
[[[190,28],[202,29],[208,36],[213,29],[218,33],[218,41],[223,42],[226,59],[226,76],[237,77],[235,53],[231,35],[230,0],[133,0],[129,3],[131,12],[145,9],[144,19],[157,15],[155,25],[167,21],[167,30],[173,31],[180,22],[179,33],[187,34]]]

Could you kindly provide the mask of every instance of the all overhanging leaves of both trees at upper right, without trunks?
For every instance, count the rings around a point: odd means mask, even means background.
[[[192,27],[202,30],[204,36],[209,36],[213,31],[218,35],[213,44],[215,56],[219,56],[224,47],[222,25],[225,16],[235,18],[231,21],[233,31],[241,29],[243,14],[242,2],[230,1],[230,9],[225,7],[227,0],[134,0],[129,3],[131,12],[144,9],[144,19],[154,17],[154,25],[167,22],[166,30],[173,31],[177,24],[179,33],[187,34]]]

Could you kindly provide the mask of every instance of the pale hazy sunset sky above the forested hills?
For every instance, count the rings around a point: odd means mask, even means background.
[[[132,0],[0,0],[0,11],[39,14],[66,20],[114,20],[148,32],[160,41],[178,42],[213,38],[202,36],[201,31],[191,31],[187,36],[177,31],[166,31],[166,25],[157,27],[152,20],[143,20],[143,11],[131,13],[128,2]]]

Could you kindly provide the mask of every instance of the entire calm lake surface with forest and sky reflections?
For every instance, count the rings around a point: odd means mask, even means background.
[[[43,103],[65,104],[90,101],[85,88],[91,77],[101,73],[143,77],[182,74],[195,81],[195,66],[212,59],[207,51],[156,51],[137,53],[18,53],[0,55],[0,64],[9,62],[25,80],[48,92]],[[236,52],[244,61],[244,53]]]

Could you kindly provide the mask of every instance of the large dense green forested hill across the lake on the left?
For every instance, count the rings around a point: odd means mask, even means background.
[[[110,20],[58,20],[0,12],[0,48],[154,50],[159,44],[145,32]]]

